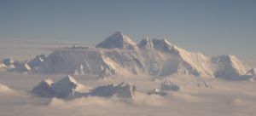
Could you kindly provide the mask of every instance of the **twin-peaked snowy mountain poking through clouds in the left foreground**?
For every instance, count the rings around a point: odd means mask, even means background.
[[[32,93],[44,97],[73,98],[80,94],[79,89],[82,87],[82,84],[68,75],[56,83],[50,78],[44,79],[32,89]]]

